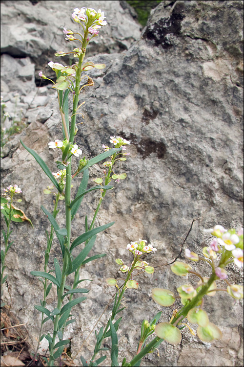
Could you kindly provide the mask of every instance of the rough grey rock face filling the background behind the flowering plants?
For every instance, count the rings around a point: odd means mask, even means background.
[[[19,139],[36,150],[51,171],[57,170],[58,153],[47,149],[49,141],[61,138],[56,93],[49,85],[37,88],[35,75],[40,71],[40,60],[54,61],[52,57],[46,60],[47,54],[71,47],[61,41],[59,20],[66,28],[74,29],[69,14],[77,3],[58,3],[1,2],[3,100],[11,111],[14,92],[19,92],[29,124],[4,147],[2,186],[21,187],[21,208],[35,226],[33,230],[27,223],[13,225],[11,237],[15,242],[8,253],[6,273],[14,299],[12,308],[23,322],[29,322],[33,344],[40,320],[33,304],[41,298],[41,283],[30,271],[43,270],[45,229],[49,225],[40,207],[52,210],[52,198],[43,194],[48,178]],[[97,44],[91,47],[91,60],[107,67],[89,71],[95,86],[81,93],[84,119],[78,115],[77,122],[82,124],[78,125],[76,143],[86,158],[102,153],[102,144],[107,145],[110,136],[122,136],[131,145],[127,149],[130,157],[117,167],[118,172],[127,172],[127,178],[107,193],[98,217],[99,225],[116,221],[98,237],[92,253],[106,252],[107,256],[82,270],[82,278],[93,280],[92,285],[84,282],[91,291],[88,299],[77,306],[77,323],[70,324],[67,337],[73,338],[74,356],[113,295],[114,290],[104,285],[104,279],[119,277],[114,259],[122,257],[129,263],[127,243],[146,239],[158,249],[157,254],[148,255],[150,265],[158,268],[153,277],[142,275],[140,288],[126,295],[126,322],[120,334],[122,361],[124,356],[130,360],[136,350],[143,319],[150,320],[161,310],[150,297],[151,288],[175,291],[183,284],[163,264],[179,253],[192,220],[199,218],[184,247],[197,253],[209,241],[203,236],[203,228],[215,224],[242,227],[243,1],[162,1],[141,36],[139,25],[119,1],[83,1],[82,6],[104,10],[109,27],[101,31]],[[7,14],[15,15],[14,25]],[[18,26],[23,32],[17,32]],[[54,34],[59,38],[55,39]],[[14,78],[13,70],[17,75]],[[102,170],[102,164],[91,169],[90,186]],[[79,179],[74,180],[74,192],[79,183]],[[85,197],[74,222],[74,238],[84,231],[84,215],[91,220],[97,202],[96,194]],[[60,225],[62,208],[63,204],[57,217]],[[54,257],[60,259],[56,240],[51,255],[51,264]],[[204,264],[201,271],[205,276],[210,274]],[[240,275],[241,271],[229,267],[231,283],[240,284]],[[194,282],[192,277],[189,281]],[[211,321],[223,331],[223,340],[203,344],[185,331],[181,345],[163,342],[160,357],[149,354],[142,366],[242,366],[241,301],[217,293],[207,298],[204,306]],[[7,292],[4,297],[8,299]],[[55,307],[54,297],[55,292],[50,292],[50,309]],[[162,321],[169,320],[174,307],[163,309]],[[103,316],[98,327],[105,320]],[[90,358],[93,341],[92,335],[79,353]]]

